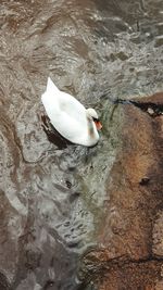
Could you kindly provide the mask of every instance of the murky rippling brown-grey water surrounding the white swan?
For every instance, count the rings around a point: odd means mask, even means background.
[[[75,290],[118,143],[109,99],[163,90],[163,2],[1,0],[0,27],[1,290]],[[96,148],[48,140],[40,96],[49,75],[99,110]]]

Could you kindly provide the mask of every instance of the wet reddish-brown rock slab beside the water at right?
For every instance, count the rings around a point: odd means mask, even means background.
[[[102,248],[83,260],[82,279],[93,281],[93,289],[162,289],[162,116],[153,119],[138,108],[124,108],[123,143],[98,232]]]

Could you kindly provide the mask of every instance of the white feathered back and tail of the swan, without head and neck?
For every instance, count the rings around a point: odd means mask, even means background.
[[[51,124],[63,137],[77,142],[76,138],[87,134],[86,109],[73,96],[59,90],[50,77],[41,101]]]

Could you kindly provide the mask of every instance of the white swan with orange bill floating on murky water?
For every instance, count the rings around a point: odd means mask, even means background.
[[[102,125],[97,112],[86,110],[73,96],[59,90],[50,77],[41,101],[51,124],[65,139],[87,147],[98,142]]]

